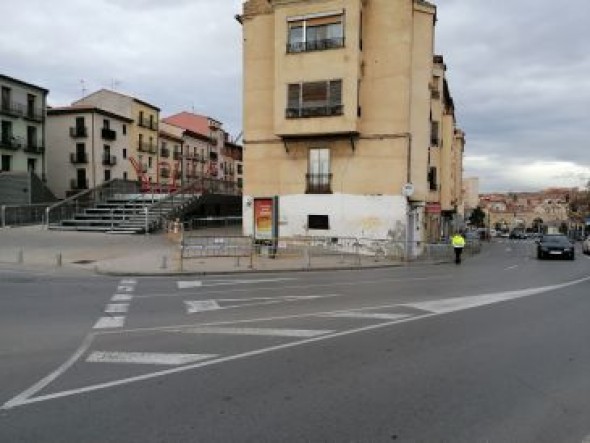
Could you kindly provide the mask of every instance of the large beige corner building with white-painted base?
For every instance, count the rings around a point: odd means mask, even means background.
[[[443,149],[462,132],[441,107],[436,138],[445,146],[432,143],[436,7],[248,0],[239,19],[244,233],[253,233],[253,198],[272,196],[281,236],[413,242],[438,232],[432,219],[460,206],[462,155]],[[429,203],[439,209],[427,212]]]

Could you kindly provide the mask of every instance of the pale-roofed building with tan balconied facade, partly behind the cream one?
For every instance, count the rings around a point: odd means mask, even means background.
[[[73,106],[95,106],[132,120],[129,125],[128,161],[124,164],[129,179],[158,183],[158,122],[160,108],[129,95],[101,89],[74,102]]]

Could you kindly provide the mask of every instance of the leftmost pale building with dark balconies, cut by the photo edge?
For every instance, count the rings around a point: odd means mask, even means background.
[[[47,89],[0,74],[0,171],[45,179]]]

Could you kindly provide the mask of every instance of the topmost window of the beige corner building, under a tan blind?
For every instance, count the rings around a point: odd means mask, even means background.
[[[344,47],[344,14],[341,11],[291,17],[287,20],[288,53]]]

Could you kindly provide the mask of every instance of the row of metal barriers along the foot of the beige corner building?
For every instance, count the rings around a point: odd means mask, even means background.
[[[466,256],[479,253],[479,241],[467,242]],[[181,259],[206,257],[249,257],[292,260],[310,267],[312,263],[341,265],[375,262],[447,262],[454,260],[453,247],[448,243],[396,242],[355,237],[280,237],[275,241],[255,242],[244,236],[203,236],[183,232]]]

